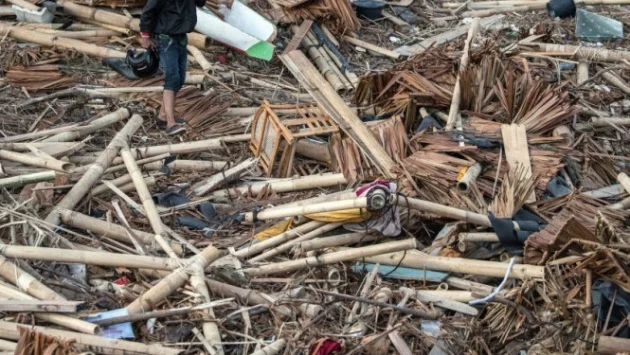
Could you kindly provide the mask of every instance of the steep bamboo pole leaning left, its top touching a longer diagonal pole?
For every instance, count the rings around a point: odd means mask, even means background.
[[[142,176],[142,173],[140,172],[140,169],[138,168],[138,164],[136,164],[136,160],[133,158],[129,147],[126,144],[120,150],[120,155],[125,162],[125,166],[127,166],[127,171],[129,171],[129,175],[131,175],[131,179],[133,180],[133,184],[136,187],[136,192],[138,193],[138,197],[142,202],[142,206],[144,207],[145,214],[149,219],[151,228],[153,229],[153,232],[155,232],[155,241],[171,258],[177,258],[177,254],[166,240],[168,234],[162,226],[162,219],[160,218],[160,214],[155,207],[155,202],[153,202],[151,192],[149,192],[149,188],[144,182],[144,178]]]

